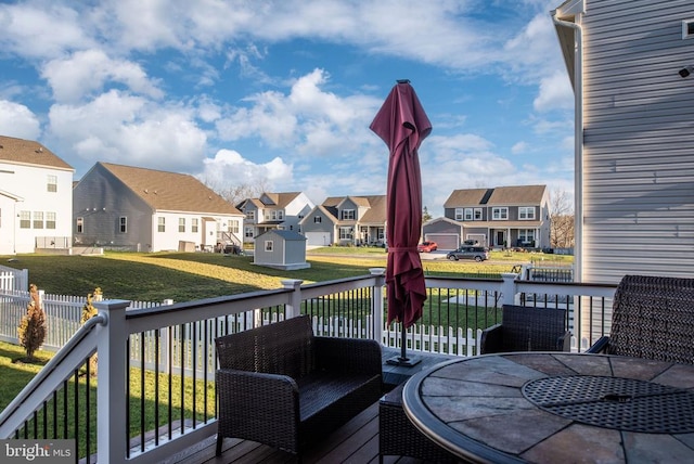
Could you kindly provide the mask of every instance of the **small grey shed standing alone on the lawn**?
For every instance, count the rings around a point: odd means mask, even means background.
[[[310,268],[306,262],[306,237],[298,232],[270,230],[255,237],[254,265],[295,270]]]

